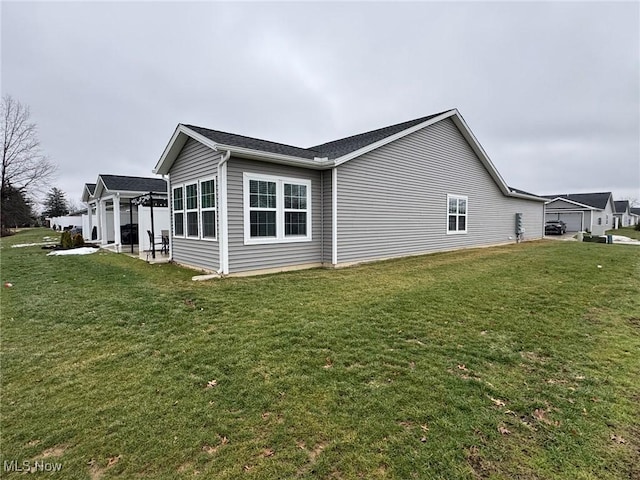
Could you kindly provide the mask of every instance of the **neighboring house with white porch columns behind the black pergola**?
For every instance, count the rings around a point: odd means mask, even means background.
[[[142,198],[150,193],[153,228],[149,201]],[[85,184],[82,201],[88,209],[82,222],[83,236],[101,245],[113,244],[116,251],[122,251],[132,239],[140,251],[148,250],[147,230],[154,231],[156,237],[161,230],[169,230],[167,182],[162,178],[101,174],[95,184]]]

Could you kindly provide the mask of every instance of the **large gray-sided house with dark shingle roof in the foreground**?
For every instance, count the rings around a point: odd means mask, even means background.
[[[511,189],[457,110],[311,148],[179,124],[172,259],[247,274],[540,239],[544,201]]]

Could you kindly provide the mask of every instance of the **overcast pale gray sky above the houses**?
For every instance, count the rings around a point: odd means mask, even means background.
[[[512,187],[640,199],[636,1],[0,8],[2,93],[76,204],[178,123],[309,147],[453,107]]]

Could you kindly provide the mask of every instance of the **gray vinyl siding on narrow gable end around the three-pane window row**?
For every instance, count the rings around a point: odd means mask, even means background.
[[[217,174],[220,154],[209,147],[202,145],[193,139],[187,140],[180,155],[171,167],[169,190],[171,194],[175,185],[197,182],[199,179],[211,177]],[[217,186],[217,183],[216,183]],[[218,188],[219,192],[219,188]],[[199,200],[198,200],[199,202]],[[198,240],[194,238],[181,238],[173,236],[173,204],[171,205],[171,231],[172,231],[172,259],[183,265],[200,268],[207,271],[216,271],[220,268],[220,249],[218,241]],[[216,205],[220,205],[216,192]],[[220,220],[220,212],[216,211],[216,220]],[[219,224],[216,226],[216,234],[219,235]]]

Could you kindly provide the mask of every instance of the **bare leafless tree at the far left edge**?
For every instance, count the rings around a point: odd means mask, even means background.
[[[43,188],[56,172],[56,166],[42,154],[35,123],[29,121],[29,107],[10,95],[2,97],[0,138],[2,165],[0,170],[0,199],[4,204],[11,192],[29,195]],[[4,209],[2,209],[4,210]],[[4,213],[1,229],[5,232]]]

